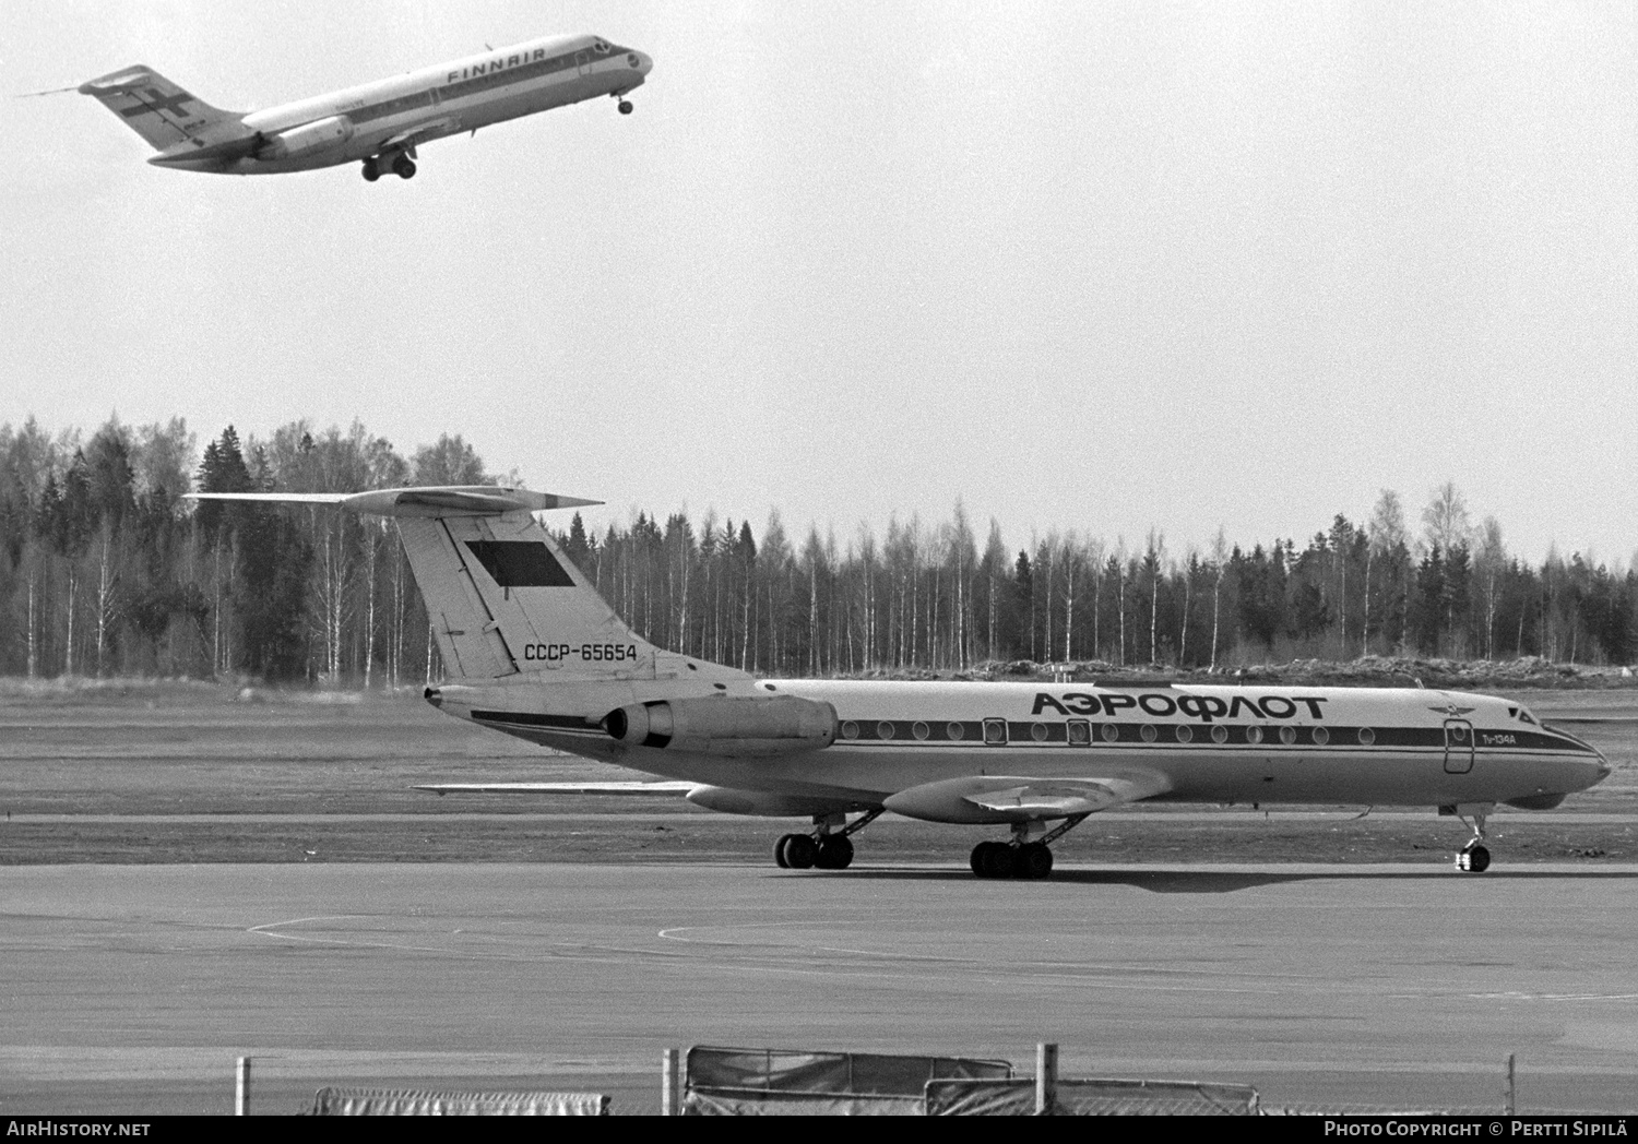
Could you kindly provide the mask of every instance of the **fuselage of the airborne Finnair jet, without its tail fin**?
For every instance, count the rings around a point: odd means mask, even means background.
[[[205,147],[177,144],[149,162],[233,175],[359,162],[393,147],[622,95],[639,87],[652,65],[644,52],[598,36],[549,36],[252,111],[239,119],[233,137]],[[329,129],[305,131],[324,126]],[[254,154],[238,146],[244,136],[257,139]]]

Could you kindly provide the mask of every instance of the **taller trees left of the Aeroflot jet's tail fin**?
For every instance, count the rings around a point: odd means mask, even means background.
[[[459,435],[405,458],[359,422],[229,426],[203,457],[182,419],[0,426],[0,673],[421,682],[436,650],[390,522],[182,494],[488,480]]]

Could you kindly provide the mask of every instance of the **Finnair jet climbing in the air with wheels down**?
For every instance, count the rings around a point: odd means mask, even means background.
[[[159,154],[147,162],[223,175],[277,175],[346,162],[414,175],[416,146],[596,95],[619,100],[654,61],[601,36],[550,36],[424,67],[265,111],[218,111],[143,65],[79,87],[95,95]]]

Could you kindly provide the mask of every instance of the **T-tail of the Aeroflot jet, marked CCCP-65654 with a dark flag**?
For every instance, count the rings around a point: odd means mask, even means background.
[[[464,682],[742,676],[644,640],[563,555],[534,512],[583,501],[500,486],[375,493],[195,493],[206,501],[336,504],[398,522],[444,669]]]

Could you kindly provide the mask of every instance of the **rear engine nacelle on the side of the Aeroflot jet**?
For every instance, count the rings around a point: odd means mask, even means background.
[[[732,756],[798,754],[835,741],[835,707],[794,696],[672,699],[616,707],[603,727],[627,746]]]

